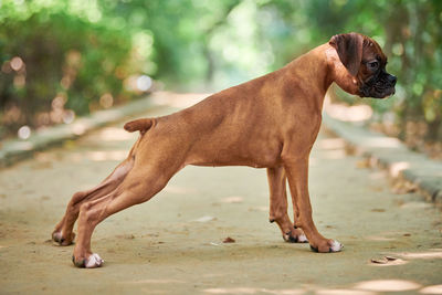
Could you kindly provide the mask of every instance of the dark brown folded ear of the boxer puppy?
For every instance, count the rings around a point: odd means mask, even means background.
[[[332,36],[328,43],[336,49],[340,62],[348,72],[356,76],[362,61],[362,35],[357,33],[338,34]]]

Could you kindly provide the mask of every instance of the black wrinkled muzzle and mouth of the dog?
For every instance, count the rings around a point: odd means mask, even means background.
[[[360,87],[360,97],[386,98],[396,93],[397,78],[393,75],[382,71],[378,75],[372,76]]]

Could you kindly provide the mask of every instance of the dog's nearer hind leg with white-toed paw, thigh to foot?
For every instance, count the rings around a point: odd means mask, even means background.
[[[91,238],[95,226],[118,211],[151,199],[178,170],[179,168],[167,166],[136,166],[116,190],[105,197],[83,203],[80,209],[78,236],[73,263],[78,267],[87,268],[101,266],[103,260],[91,251]]]

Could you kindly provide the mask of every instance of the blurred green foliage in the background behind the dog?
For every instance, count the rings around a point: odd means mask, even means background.
[[[380,43],[399,78],[392,98],[362,102],[402,139],[414,122],[440,140],[441,23],[439,0],[3,0],[0,137],[139,96],[139,75],[220,89],[355,31]]]

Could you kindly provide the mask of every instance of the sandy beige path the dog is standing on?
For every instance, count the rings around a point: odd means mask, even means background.
[[[0,171],[1,294],[442,293],[440,211],[390,192],[382,172],[360,168],[325,131],[312,155],[311,196],[319,231],[344,243],[341,253],[283,241],[267,221],[264,169],[187,167],[148,203],[97,226],[92,246],[104,267],[75,268],[73,246],[49,239],[71,196],[126,156],[136,135],[122,125]],[[235,242],[223,243],[228,236]]]

